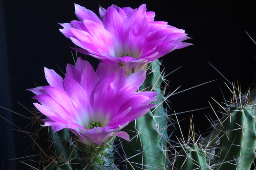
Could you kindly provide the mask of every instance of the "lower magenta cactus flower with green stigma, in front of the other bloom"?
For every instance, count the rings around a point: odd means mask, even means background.
[[[126,132],[117,131],[146,114],[154,106],[148,104],[156,100],[156,92],[136,92],[145,71],[127,77],[124,67],[111,61],[100,63],[95,72],[78,58],[75,66],[67,65],[64,79],[54,70],[45,68],[44,73],[49,86],[28,89],[41,103],[35,107],[49,117],[43,119],[44,126],[52,126],[54,132],[68,128],[87,145],[102,145],[112,136],[129,141]]]

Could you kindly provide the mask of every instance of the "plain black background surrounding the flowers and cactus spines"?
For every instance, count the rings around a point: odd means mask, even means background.
[[[31,114],[20,104],[25,107],[33,107],[33,93],[27,91],[28,88],[34,88],[36,85],[44,86],[47,82],[44,78],[44,67],[56,70],[62,75],[61,70],[66,69],[67,63],[74,63],[71,55],[70,47],[74,47],[72,42],[68,40],[60,31],[60,25],[57,23],[70,22],[77,20],[75,16],[74,3],[80,4],[99,14],[99,5],[107,8],[111,4],[124,7],[130,6],[137,8],[140,4],[147,4],[147,11],[155,11],[155,20],[168,21],[169,25],[186,30],[188,36],[193,38],[186,42],[194,45],[174,50],[168,55],[165,55],[160,60],[166,66],[166,73],[177,69],[179,70],[168,76],[171,80],[170,89],[175,90],[182,85],[178,91],[189,87],[202,84],[204,82],[218,79],[207,85],[196,87],[193,90],[182,92],[171,96],[170,114],[209,107],[210,101],[216,110],[219,110],[211,97],[222,102],[223,95],[226,99],[230,97],[225,84],[224,78],[212,68],[210,62],[216,67],[229,81],[239,81],[242,87],[242,92],[245,92],[251,85],[255,77],[256,59],[256,44],[245,33],[249,33],[256,40],[255,25],[255,5],[252,1],[207,1],[204,3],[196,1],[169,1],[166,4],[164,1],[61,1],[61,0],[1,0],[3,6],[0,8],[2,16],[0,38],[3,46],[1,46],[1,76],[5,81],[2,81],[1,102],[0,106],[12,109],[25,116]],[[5,41],[6,40],[6,41]],[[5,46],[6,42],[6,46]],[[7,47],[7,48],[6,48]],[[7,49],[7,53],[3,53]],[[254,53],[254,54],[253,54]],[[83,56],[83,55],[79,55]],[[88,56],[87,59],[97,67],[97,60]],[[58,66],[57,66],[58,65]],[[9,67],[9,69],[8,69]],[[226,81],[227,82],[227,81]],[[10,83],[10,90],[9,84]],[[36,84],[36,85],[35,85]],[[10,95],[11,104],[10,105]],[[11,112],[6,112],[0,108],[0,114],[10,116]],[[182,121],[181,125],[185,132],[188,131],[189,115],[194,113],[194,122],[198,126],[201,133],[209,127],[209,123],[205,118],[208,113],[212,115],[210,108],[181,114],[179,119],[187,117],[187,120]],[[7,117],[11,120],[10,117]],[[16,114],[12,114],[13,123],[24,128],[29,122]],[[213,119],[215,119],[213,117]],[[31,153],[31,140],[24,133],[14,132],[14,140],[10,127],[6,127],[5,120],[0,119],[1,129],[5,130],[6,135],[3,135],[1,145],[6,148],[6,138],[11,140],[8,142],[8,147],[13,147],[14,151],[9,150],[13,154],[8,156],[5,152],[3,156],[5,169],[9,165],[5,159],[18,158],[28,156]],[[2,123],[3,122],[3,123]],[[4,134],[4,132],[3,132]],[[175,138],[175,137],[174,137]],[[6,144],[6,145],[5,145]],[[29,148],[29,149],[28,149]],[[1,152],[1,151],[0,151]],[[3,161],[1,160],[1,161]],[[15,162],[14,162],[15,163]],[[11,163],[13,164],[13,162]],[[19,163],[17,169],[28,169]],[[1,168],[0,168],[1,169]],[[14,168],[13,168],[14,169]]]

